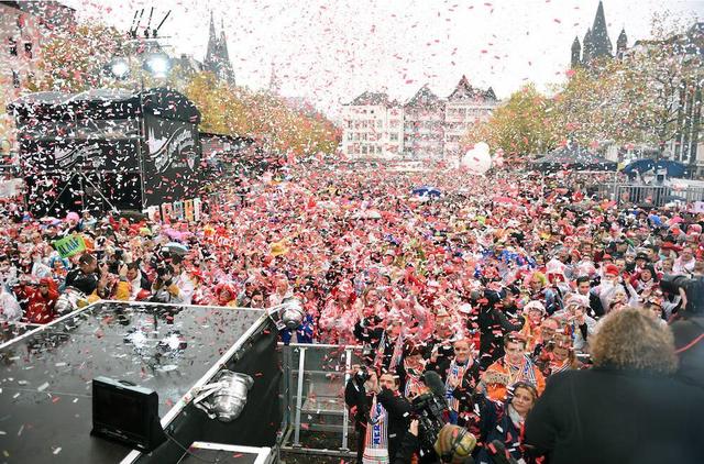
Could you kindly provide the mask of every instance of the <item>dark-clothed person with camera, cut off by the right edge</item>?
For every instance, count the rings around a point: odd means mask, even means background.
[[[660,287],[682,298],[680,309],[670,319],[680,361],[676,376],[704,388],[704,278],[664,276]]]

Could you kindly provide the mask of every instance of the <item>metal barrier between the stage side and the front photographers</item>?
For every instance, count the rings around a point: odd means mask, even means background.
[[[352,366],[361,364],[362,346],[279,344],[283,421],[280,451],[352,456],[353,421],[344,404]]]

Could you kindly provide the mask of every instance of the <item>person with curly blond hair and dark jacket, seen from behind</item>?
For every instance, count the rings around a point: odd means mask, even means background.
[[[550,376],[526,419],[526,443],[551,464],[704,460],[704,390],[672,377],[673,336],[647,311],[609,313],[591,344],[594,367]]]

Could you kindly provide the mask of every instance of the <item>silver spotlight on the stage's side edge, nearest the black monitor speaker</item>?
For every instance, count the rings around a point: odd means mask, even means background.
[[[204,385],[194,405],[208,413],[210,419],[232,422],[240,417],[246,405],[246,394],[254,385],[254,379],[246,374],[223,369],[218,374],[218,382]],[[209,400],[206,398],[212,397]]]

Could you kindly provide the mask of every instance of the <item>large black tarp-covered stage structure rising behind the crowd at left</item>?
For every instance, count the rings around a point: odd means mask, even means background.
[[[198,195],[200,113],[177,91],[38,92],[8,109],[37,216],[143,210]]]

